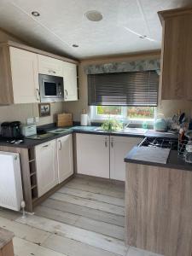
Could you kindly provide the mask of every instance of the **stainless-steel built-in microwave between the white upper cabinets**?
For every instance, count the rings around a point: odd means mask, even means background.
[[[63,78],[38,74],[41,102],[64,100]]]

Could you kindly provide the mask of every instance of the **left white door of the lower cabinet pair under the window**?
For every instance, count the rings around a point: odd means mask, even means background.
[[[78,173],[109,178],[109,137],[76,134]]]

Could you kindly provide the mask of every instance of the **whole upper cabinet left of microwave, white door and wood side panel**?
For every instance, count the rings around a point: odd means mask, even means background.
[[[0,104],[40,102],[38,57],[14,47],[0,48]]]

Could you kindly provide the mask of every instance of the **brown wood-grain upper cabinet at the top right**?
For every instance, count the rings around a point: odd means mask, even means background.
[[[161,99],[192,100],[192,9],[159,15],[163,26]]]

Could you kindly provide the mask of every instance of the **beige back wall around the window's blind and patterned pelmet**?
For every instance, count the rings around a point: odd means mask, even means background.
[[[64,109],[67,112],[73,113],[73,119],[75,121],[80,120],[80,114],[82,109],[85,109],[89,113],[90,108],[88,106],[88,92],[87,92],[87,76],[84,73],[84,67],[91,64],[103,64],[109,62],[120,62],[120,61],[131,61],[139,59],[155,59],[160,57],[160,52],[149,52],[143,54],[132,54],[132,55],[122,55],[117,57],[103,57],[97,59],[83,60],[79,66],[79,102],[65,102]],[[172,117],[177,110],[185,111],[191,115],[192,104],[191,102],[185,101],[159,101],[158,113],[164,113],[166,117]]]

